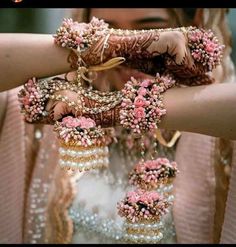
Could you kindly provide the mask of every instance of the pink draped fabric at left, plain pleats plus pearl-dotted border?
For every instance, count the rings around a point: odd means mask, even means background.
[[[43,243],[58,144],[52,126],[23,121],[18,92],[19,88],[7,92],[0,135],[0,243]],[[35,138],[35,130],[42,138]]]

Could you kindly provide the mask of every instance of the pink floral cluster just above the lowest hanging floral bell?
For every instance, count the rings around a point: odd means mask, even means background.
[[[178,173],[177,163],[167,158],[157,158],[139,162],[129,174],[129,182],[141,189],[154,190],[168,185]]]

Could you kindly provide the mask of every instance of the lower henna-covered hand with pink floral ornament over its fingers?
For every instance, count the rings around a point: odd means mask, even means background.
[[[20,90],[18,99],[28,123],[54,124],[67,115],[90,117],[102,127],[119,123],[119,101],[109,110],[93,113],[106,103],[81,95],[76,84],[58,77],[42,81],[30,79]]]

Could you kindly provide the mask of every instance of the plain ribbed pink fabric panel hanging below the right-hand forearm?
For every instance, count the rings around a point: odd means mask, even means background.
[[[176,150],[174,222],[178,243],[212,243],[215,213],[214,138],[182,133]]]

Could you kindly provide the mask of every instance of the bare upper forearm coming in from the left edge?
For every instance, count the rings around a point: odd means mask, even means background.
[[[31,77],[70,71],[68,49],[54,44],[50,34],[0,34],[0,91],[23,84]]]

